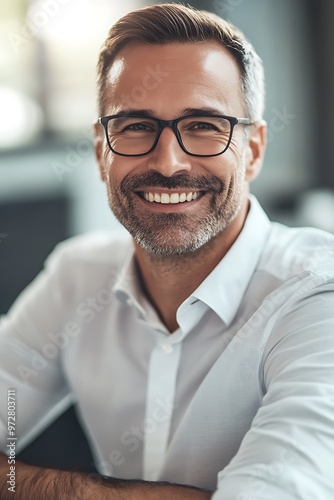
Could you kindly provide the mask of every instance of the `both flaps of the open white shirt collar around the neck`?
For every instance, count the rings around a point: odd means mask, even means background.
[[[270,228],[267,215],[257,199],[250,195],[250,209],[238,238],[215,269],[181,304],[178,312],[185,312],[190,305],[194,305],[194,301],[201,301],[201,310],[203,306],[203,310],[208,306],[229,325],[256,269]],[[135,306],[143,318],[147,316],[147,304],[143,302],[132,245],[113,291],[122,302]],[[194,313],[192,310],[192,316]]]

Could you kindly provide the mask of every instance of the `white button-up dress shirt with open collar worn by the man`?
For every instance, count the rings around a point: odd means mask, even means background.
[[[1,318],[0,449],[15,388],[19,448],[74,401],[104,474],[214,500],[333,500],[333,251],[333,236],[271,223],[251,197],[170,334],[130,236],[61,243]]]

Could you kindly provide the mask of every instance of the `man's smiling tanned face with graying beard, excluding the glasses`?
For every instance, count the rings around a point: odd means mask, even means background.
[[[141,110],[172,120],[184,116],[186,110],[203,108],[246,116],[238,66],[215,42],[129,44],[109,70],[105,115]],[[162,131],[151,153],[139,157],[112,153],[102,127],[96,128],[96,135],[110,207],[148,252],[194,252],[223,236],[226,228],[240,226],[248,180],[260,165],[255,158],[259,152],[245,138],[242,125],[235,127],[228,150],[216,157],[188,155],[170,127]],[[156,201],[150,201],[153,197]]]

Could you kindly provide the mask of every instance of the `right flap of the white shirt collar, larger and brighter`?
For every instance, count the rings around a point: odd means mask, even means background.
[[[244,227],[224,258],[180,306],[200,300],[229,325],[242,301],[269,236],[271,223],[254,196]]]

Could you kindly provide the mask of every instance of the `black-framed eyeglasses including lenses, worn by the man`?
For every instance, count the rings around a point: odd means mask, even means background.
[[[170,127],[183,151],[192,156],[218,156],[227,150],[236,125],[252,125],[248,118],[192,114],[176,120],[120,113],[98,119],[108,145],[121,156],[143,156],[156,147],[161,132]]]

